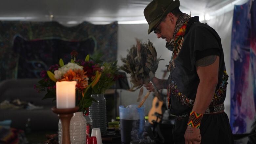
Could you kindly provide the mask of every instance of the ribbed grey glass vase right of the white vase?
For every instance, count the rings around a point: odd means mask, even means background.
[[[107,110],[104,94],[92,94],[93,101],[89,107],[89,115],[93,120],[93,128],[100,128],[102,136],[107,135]]]

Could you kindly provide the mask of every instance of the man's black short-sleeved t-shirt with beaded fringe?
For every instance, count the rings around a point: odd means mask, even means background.
[[[174,60],[175,68],[172,69],[168,78],[172,114],[182,114],[192,110],[200,81],[195,63],[209,55],[220,57],[219,82],[210,104],[214,106],[222,104],[225,100],[228,77],[225,72],[221,39],[214,29],[207,24],[200,23],[198,16],[192,17],[187,24],[181,51]]]

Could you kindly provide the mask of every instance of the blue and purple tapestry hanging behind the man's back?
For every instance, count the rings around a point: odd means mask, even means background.
[[[256,1],[235,6],[231,41],[231,115],[233,134],[253,130],[256,112]]]

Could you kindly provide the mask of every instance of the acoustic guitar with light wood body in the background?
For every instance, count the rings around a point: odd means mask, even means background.
[[[166,74],[167,74],[167,71],[164,71],[162,79],[166,76]],[[160,99],[158,97],[160,97]],[[163,115],[163,111],[162,111],[163,103],[164,103],[164,96],[162,95],[162,89],[161,89],[160,93],[159,92],[155,93],[155,96],[152,101],[152,108],[148,112],[148,122],[150,124],[153,124],[152,120],[155,120],[157,122],[161,121],[162,115]]]

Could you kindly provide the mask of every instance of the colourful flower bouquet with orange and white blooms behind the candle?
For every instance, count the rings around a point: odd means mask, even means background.
[[[101,61],[101,53],[96,52],[92,57],[87,55],[85,60],[76,60],[77,55],[76,51],[72,51],[68,64],[64,64],[60,59],[59,64],[51,66],[48,71],[42,71],[42,79],[34,88],[38,92],[47,92],[43,99],[56,100],[57,81],[76,81],[76,106],[79,111],[85,112],[92,101],[96,101],[91,94],[104,93],[120,76],[117,73],[117,62]]]

